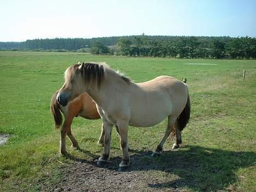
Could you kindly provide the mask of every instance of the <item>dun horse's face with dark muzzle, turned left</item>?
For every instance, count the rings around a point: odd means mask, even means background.
[[[61,106],[66,106],[69,101],[86,91],[85,81],[82,77],[81,66],[77,68],[69,67],[65,72],[65,83],[57,94],[57,102]],[[73,67],[73,66],[72,66]]]

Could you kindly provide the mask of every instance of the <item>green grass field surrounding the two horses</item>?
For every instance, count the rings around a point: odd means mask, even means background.
[[[190,123],[182,132],[183,147],[173,152],[183,191],[256,190],[256,61],[137,58],[94,56],[79,53],[0,52],[0,133],[11,135],[0,146],[0,191],[37,191],[40,179],[51,174],[60,181],[59,131],[54,131],[49,104],[63,84],[63,72],[78,61],[106,62],[135,82],[158,75],[188,79]],[[184,65],[217,63],[219,65]],[[246,80],[242,79],[246,69]],[[154,150],[164,135],[166,121],[149,129],[129,130],[130,147]],[[75,118],[72,125],[82,153],[68,146],[76,158],[100,156],[97,146],[101,120]],[[114,131],[115,132],[115,131]],[[173,141],[164,150],[170,151]],[[167,154],[166,154],[167,155]],[[167,156],[155,161],[165,164]],[[112,136],[110,156],[121,157],[117,135]],[[111,158],[110,157],[110,158]],[[149,158],[141,156],[141,158]]]

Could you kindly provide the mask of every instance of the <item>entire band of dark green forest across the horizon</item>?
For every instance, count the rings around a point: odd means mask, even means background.
[[[256,59],[256,38],[124,36],[0,42],[1,50],[77,51],[92,54],[212,59]]]

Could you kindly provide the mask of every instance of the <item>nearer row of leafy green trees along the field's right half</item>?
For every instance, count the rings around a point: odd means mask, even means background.
[[[172,37],[120,38],[120,55],[179,58],[256,59],[256,38]]]

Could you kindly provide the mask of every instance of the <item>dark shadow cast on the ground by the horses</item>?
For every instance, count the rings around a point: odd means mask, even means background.
[[[89,153],[86,151],[86,153]],[[158,183],[148,183],[150,188],[190,188],[196,191],[218,191],[237,182],[236,171],[255,164],[256,153],[235,152],[200,146],[186,146],[185,150],[163,152],[158,158],[152,158],[153,152],[131,150],[132,171],[162,171],[175,175],[176,179]],[[90,154],[96,158],[98,156]],[[74,160],[74,159],[73,159]],[[78,159],[81,161],[81,159]],[[110,158],[105,168],[118,171],[120,157]],[[95,165],[95,161],[82,162]]]

